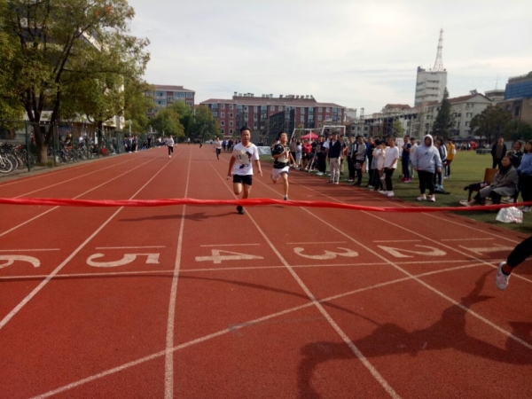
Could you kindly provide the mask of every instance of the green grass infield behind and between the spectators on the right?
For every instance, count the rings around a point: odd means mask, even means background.
[[[270,156],[262,156],[261,160],[272,162]],[[343,165],[345,174],[341,176],[341,184],[348,184],[345,182],[348,176],[348,166],[344,162]],[[451,164],[450,179],[443,181],[443,188],[450,194],[436,194],[436,202],[423,202],[426,207],[460,207],[460,200],[467,199],[467,192],[464,187],[467,184],[481,182],[484,176],[484,170],[491,168],[491,156],[479,155],[473,151],[458,152]],[[418,179],[412,179],[409,184],[401,183],[401,166],[397,168],[393,177],[395,197],[405,201],[412,201],[419,203],[416,198],[419,196]],[[329,176],[316,176],[322,178],[324,181],[329,179]],[[367,184],[369,178],[368,174],[364,174],[362,184]],[[379,195],[379,194],[375,194]],[[522,199],[520,198],[520,201]],[[479,222],[489,223],[498,227],[504,227],[513,231],[520,231],[530,233],[532,231],[532,213],[523,214],[523,223],[501,223],[495,220],[497,211],[465,211],[457,212],[459,215],[470,217]]]

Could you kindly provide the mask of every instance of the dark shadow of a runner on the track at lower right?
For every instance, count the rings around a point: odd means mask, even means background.
[[[486,278],[492,275],[489,270],[475,284],[473,291],[462,298],[460,305],[470,309],[475,303],[489,301],[492,296],[481,295]],[[409,354],[417,356],[423,351],[455,349],[462,353],[487,358],[505,364],[532,364],[532,351],[523,350],[523,346],[508,338],[506,348],[498,348],[488,342],[467,335],[466,313],[457,305],[443,310],[439,321],[426,329],[409,332],[391,323],[379,325],[371,335],[353,341],[356,348],[366,358]],[[510,323],[512,334],[518,337],[530,337],[532,323]],[[353,352],[345,343],[318,341],[301,348],[301,364],[298,371],[299,397],[301,399],[319,399],[319,393],[312,387],[312,377],[320,364],[331,360],[356,360]]]

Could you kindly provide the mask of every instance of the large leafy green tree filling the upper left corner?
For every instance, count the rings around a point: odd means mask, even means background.
[[[135,12],[126,0],[0,1],[0,33],[17,43],[4,66],[11,79],[1,89],[17,96],[29,121],[38,124],[49,111],[54,125],[83,112],[101,125],[124,110],[125,81],[140,82],[149,59],[149,42],[129,35]],[[66,96],[76,90],[86,91]],[[45,162],[52,130],[34,134]]]

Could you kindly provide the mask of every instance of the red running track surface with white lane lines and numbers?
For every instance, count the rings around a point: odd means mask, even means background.
[[[231,200],[228,159],[180,145],[171,160],[153,149],[0,192]],[[252,196],[281,199],[263,167]],[[405,205],[290,179],[293,200]],[[532,397],[530,262],[506,292],[494,285],[522,234],[457,215],[282,206],[0,215],[2,398]]]

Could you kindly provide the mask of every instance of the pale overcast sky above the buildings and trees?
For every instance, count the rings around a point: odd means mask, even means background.
[[[413,106],[443,28],[450,97],[532,71],[530,0],[129,0],[147,37],[145,80],[196,91],[307,95],[379,112]]]

